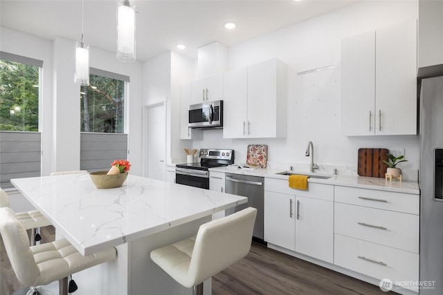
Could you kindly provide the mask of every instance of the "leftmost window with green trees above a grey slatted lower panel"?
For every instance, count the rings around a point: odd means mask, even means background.
[[[39,176],[39,79],[43,61],[0,51],[0,187]],[[31,132],[24,132],[31,131]]]

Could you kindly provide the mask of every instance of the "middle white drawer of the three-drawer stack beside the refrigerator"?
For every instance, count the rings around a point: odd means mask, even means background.
[[[419,216],[336,203],[334,232],[419,253]]]

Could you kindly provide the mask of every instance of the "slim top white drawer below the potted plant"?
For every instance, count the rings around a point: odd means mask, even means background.
[[[419,195],[339,186],[334,190],[336,202],[419,215]]]

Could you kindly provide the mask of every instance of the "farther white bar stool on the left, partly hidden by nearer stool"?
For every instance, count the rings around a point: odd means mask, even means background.
[[[0,189],[0,208],[3,207],[9,207],[9,197],[6,191],[3,191]],[[51,225],[51,222],[47,220],[44,216],[42,216],[42,213],[40,213],[38,210],[31,210],[28,212],[18,212],[15,213],[17,219],[24,225],[25,229],[31,229],[30,234],[30,245],[35,245],[35,242],[39,240],[39,238],[36,239],[37,236],[37,229],[40,227],[47,227],[48,225]],[[39,236],[38,236],[39,237]]]

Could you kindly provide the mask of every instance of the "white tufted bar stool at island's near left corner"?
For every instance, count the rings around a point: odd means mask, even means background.
[[[59,280],[60,295],[67,295],[69,275],[117,257],[115,248],[82,256],[64,238],[29,247],[26,229],[8,207],[0,208],[0,233],[17,279],[31,286],[28,294],[35,294],[35,286]]]

